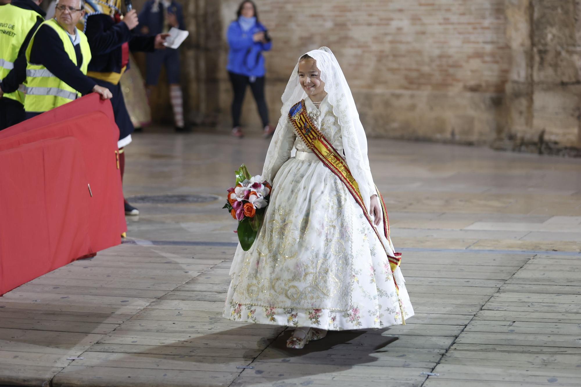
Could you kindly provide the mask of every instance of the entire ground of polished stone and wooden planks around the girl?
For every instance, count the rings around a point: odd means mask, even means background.
[[[124,187],[140,216],[123,245],[0,298],[0,385],[579,385],[581,160],[370,140],[417,314],[288,350],[285,327],[221,317],[225,189],[267,146],[136,134]]]

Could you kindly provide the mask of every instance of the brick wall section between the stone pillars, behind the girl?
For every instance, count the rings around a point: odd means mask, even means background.
[[[237,5],[222,2],[223,31]],[[258,5],[274,42],[265,55],[272,121],[278,119],[280,95],[296,59],[327,45],[345,71],[369,135],[483,142],[497,130],[510,68],[504,0],[264,0]],[[226,50],[224,45],[224,66]],[[227,113],[225,73],[220,84],[220,107]],[[251,98],[243,114],[246,123],[259,123]]]

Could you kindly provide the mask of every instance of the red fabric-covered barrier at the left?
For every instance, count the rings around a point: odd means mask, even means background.
[[[0,295],[121,242],[118,138],[93,95],[0,131]]]

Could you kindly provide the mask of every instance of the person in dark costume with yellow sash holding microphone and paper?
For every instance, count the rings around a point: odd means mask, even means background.
[[[113,93],[111,103],[115,122],[119,127],[119,161],[121,178],[125,171],[125,149],[131,143],[133,124],[125,107],[123,92],[119,85],[121,75],[129,64],[129,52],[153,52],[165,49],[163,43],[168,34],[138,35],[132,33],[139,24],[137,12],[131,10],[123,17],[119,13],[120,0],[87,1],[88,17],[85,20],[85,34],[91,46],[92,60],[87,75],[98,85],[108,88]],[[144,96],[145,98],[145,96]],[[139,210],[124,202],[125,214],[138,215]]]

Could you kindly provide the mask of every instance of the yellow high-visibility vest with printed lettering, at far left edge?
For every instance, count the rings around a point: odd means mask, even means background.
[[[31,9],[10,4],[0,8],[0,80],[14,68],[20,47],[39,16],[41,15]],[[24,104],[23,89],[24,86],[20,85],[17,91],[4,94],[3,98],[11,98]]]

